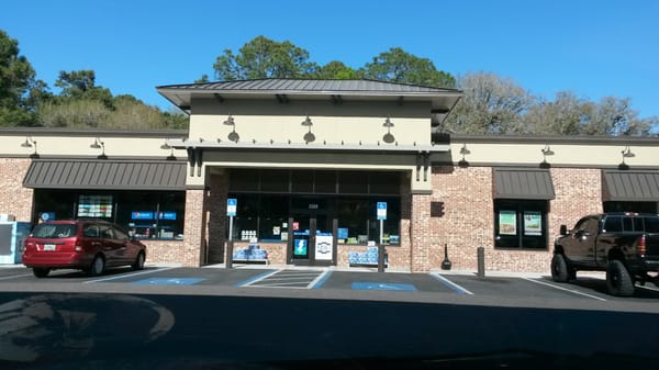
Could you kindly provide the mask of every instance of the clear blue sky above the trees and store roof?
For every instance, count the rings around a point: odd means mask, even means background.
[[[278,0],[5,1],[0,29],[37,78],[93,69],[97,85],[169,109],[160,85],[213,76],[215,58],[258,35],[311,60],[359,68],[402,47],[454,76],[494,72],[535,94],[632,98],[659,115],[659,1]]]

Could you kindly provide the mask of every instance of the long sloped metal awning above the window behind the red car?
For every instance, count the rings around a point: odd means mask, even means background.
[[[183,161],[34,160],[26,188],[185,190]]]

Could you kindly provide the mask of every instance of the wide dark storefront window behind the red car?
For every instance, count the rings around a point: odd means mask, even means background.
[[[143,239],[182,239],[186,193],[182,191],[70,191],[36,189],[36,222],[100,218]]]

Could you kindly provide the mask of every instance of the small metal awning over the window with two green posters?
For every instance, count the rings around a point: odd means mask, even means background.
[[[546,169],[494,168],[494,199],[549,200],[556,197]]]

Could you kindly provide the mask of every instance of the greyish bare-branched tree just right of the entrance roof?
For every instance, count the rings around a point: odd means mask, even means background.
[[[525,133],[522,116],[534,98],[513,80],[494,74],[467,74],[457,81],[462,99],[445,128],[462,134]]]

